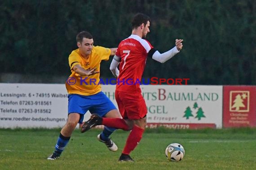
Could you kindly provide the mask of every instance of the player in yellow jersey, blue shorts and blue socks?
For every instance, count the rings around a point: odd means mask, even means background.
[[[68,92],[68,119],[62,128],[55,145],[55,151],[47,159],[58,159],[70,140],[71,133],[77,123],[82,123],[84,114],[98,114],[101,117],[122,118],[115,105],[101,91],[100,63],[108,60],[110,55],[115,55],[117,48],[105,48],[93,46],[93,36],[82,31],[76,36],[78,49],[69,55],[69,66],[71,75],[66,81]],[[109,136],[114,132],[114,128],[104,127],[97,139],[106,144],[110,151],[117,151],[116,144],[110,140]]]

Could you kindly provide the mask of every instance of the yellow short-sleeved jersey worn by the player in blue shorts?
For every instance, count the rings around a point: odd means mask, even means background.
[[[71,52],[68,61],[71,68],[71,75],[66,81],[66,89],[69,94],[80,95],[93,95],[101,91],[100,74],[94,74],[92,76],[80,76],[75,73],[72,68],[80,64],[85,70],[97,68],[96,71],[100,71],[100,63],[102,60],[108,60],[110,56],[110,49],[105,47],[96,46],[93,47],[88,59],[84,59],[79,54],[79,49]],[[73,80],[69,81],[69,79]],[[73,84],[75,82],[75,84]]]

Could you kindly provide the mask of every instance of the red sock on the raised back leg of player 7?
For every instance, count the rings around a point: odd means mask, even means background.
[[[107,127],[123,129],[125,131],[129,130],[129,127],[125,123],[124,119],[120,118],[102,118],[102,124]]]

